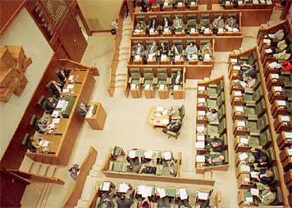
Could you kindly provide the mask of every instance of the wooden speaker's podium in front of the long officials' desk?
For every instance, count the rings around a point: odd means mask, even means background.
[[[102,130],[104,129],[104,123],[107,119],[107,112],[102,108],[102,103],[90,103],[90,107],[97,105],[97,110],[94,114],[87,112],[85,120],[90,124],[92,129]]]

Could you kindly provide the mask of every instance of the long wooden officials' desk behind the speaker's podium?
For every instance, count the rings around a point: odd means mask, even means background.
[[[78,115],[78,106],[81,102],[88,103],[95,86],[95,78],[90,70],[72,70],[70,74],[79,74],[78,72],[80,72],[80,77],[84,76],[85,78],[82,84],[75,84],[74,86],[76,100],[71,110],[71,114],[68,117],[68,123],[65,125],[66,127],[62,127],[63,132],[61,135],[44,135],[46,140],[48,138],[48,140],[59,141],[58,147],[52,148],[56,150],[56,152],[54,152],[54,154],[26,152],[26,155],[36,162],[63,165],[68,164],[75,140],[84,119]],[[59,133],[61,133],[61,131]],[[56,143],[54,142],[51,144],[55,145]]]

